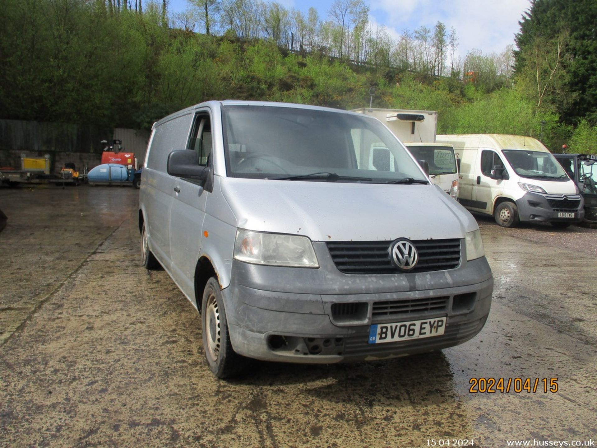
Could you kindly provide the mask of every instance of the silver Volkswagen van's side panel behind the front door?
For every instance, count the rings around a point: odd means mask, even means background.
[[[170,272],[170,207],[174,177],[166,172],[168,154],[184,149],[190,128],[190,113],[177,116],[155,127],[146,166],[143,168],[145,222],[149,247]]]

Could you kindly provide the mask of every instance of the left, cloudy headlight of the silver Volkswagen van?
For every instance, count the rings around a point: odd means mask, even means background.
[[[236,231],[234,259],[247,263],[293,268],[319,268],[313,244],[299,235]]]

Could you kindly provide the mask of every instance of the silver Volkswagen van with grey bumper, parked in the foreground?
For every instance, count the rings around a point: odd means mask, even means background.
[[[387,148],[392,167],[372,148]],[[381,360],[484,326],[493,277],[475,219],[380,121],[207,102],[153,125],[139,229],[202,316],[218,378],[245,357]]]

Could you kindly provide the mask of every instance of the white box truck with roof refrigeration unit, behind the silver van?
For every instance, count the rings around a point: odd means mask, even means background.
[[[436,111],[407,109],[353,109],[352,112],[371,115],[381,121],[407,147],[408,151],[428,171],[431,182],[454,199],[458,196],[458,164],[454,148],[448,143],[436,144],[438,127]],[[387,148],[372,148],[374,166],[391,164]]]

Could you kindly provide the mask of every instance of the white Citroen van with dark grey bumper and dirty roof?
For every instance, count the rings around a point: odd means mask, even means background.
[[[504,134],[438,135],[460,162],[458,201],[504,227],[520,221],[565,228],[584,217],[583,199],[536,139]]]

